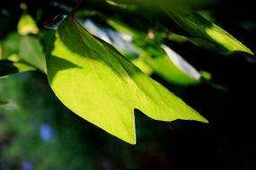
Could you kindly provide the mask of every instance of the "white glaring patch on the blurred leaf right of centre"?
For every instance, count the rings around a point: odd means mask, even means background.
[[[181,55],[177,54],[170,47],[167,47],[165,45],[162,45],[161,47],[172,60],[172,63],[175,64],[182,72],[186,72],[190,77],[194,78],[195,80],[199,80],[201,78],[201,74],[191,64],[184,60]]]

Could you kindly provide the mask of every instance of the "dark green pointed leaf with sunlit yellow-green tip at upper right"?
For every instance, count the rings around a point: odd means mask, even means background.
[[[171,10],[166,10],[166,13],[168,13],[172,20],[176,21],[183,30],[188,31],[195,37],[190,38],[190,40],[196,45],[215,49],[225,54],[239,51],[254,55],[252,51],[248,47],[245,47],[239,40],[216,24],[207,21],[207,19],[202,17],[199,13],[184,11],[177,13]]]

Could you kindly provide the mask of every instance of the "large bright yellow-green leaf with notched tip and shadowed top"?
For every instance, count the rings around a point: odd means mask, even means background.
[[[67,17],[47,48],[49,84],[75,114],[136,143],[134,109],[161,121],[207,123],[168,89],[141,72],[108,43]]]

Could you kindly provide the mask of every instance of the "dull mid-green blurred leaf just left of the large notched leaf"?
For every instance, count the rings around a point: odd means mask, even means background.
[[[46,62],[43,47],[38,38],[23,36],[20,42],[20,58],[32,66],[46,72]]]

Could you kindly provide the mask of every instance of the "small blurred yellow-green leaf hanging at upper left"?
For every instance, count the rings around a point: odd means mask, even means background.
[[[21,35],[28,35],[30,33],[37,34],[40,31],[36,25],[36,22],[28,13],[22,14],[22,17],[18,22],[17,27],[18,27],[18,33]]]

